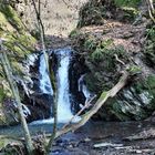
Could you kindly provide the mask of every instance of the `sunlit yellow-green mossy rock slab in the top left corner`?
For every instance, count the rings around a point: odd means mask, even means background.
[[[4,45],[8,51],[24,58],[23,55],[35,50],[35,39],[28,32],[16,10],[2,0],[0,1],[0,37],[7,40]]]

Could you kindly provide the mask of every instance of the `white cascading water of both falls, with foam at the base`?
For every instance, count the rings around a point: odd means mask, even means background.
[[[72,117],[71,103],[70,103],[70,93],[69,93],[69,66],[71,60],[71,49],[61,49],[54,51],[54,54],[58,56],[58,72],[56,72],[56,82],[58,82],[58,122],[66,123]],[[46,72],[46,65],[43,54],[40,56],[40,68],[39,72],[41,74],[40,89],[44,94],[53,94],[53,90],[50,83],[50,79]],[[73,122],[78,122],[80,117],[75,117]],[[32,124],[41,123],[53,123],[53,117],[42,121],[35,121]]]

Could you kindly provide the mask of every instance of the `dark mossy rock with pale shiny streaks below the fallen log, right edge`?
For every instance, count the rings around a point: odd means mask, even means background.
[[[155,111],[155,74],[121,91],[106,102],[108,117],[120,121],[144,120]],[[102,115],[102,113],[99,113]]]

